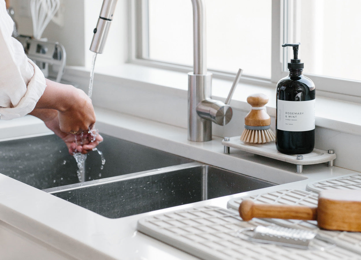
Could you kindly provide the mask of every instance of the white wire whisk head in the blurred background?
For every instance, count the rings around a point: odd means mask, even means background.
[[[60,6],[60,0],[31,0],[30,11],[35,39],[40,39]]]

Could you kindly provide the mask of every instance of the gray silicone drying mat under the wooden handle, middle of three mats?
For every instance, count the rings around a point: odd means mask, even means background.
[[[254,196],[245,196],[242,198],[231,199],[228,202],[227,207],[238,211],[240,203],[245,199],[250,199],[255,203],[262,204],[302,205],[317,207],[318,194],[312,191],[279,190]],[[321,230],[318,229],[316,221],[281,220],[276,218],[270,218],[265,221],[269,221],[273,224],[277,224],[278,226],[283,226],[286,228],[318,230],[319,234],[332,239],[336,245],[360,254],[361,259],[360,232]]]

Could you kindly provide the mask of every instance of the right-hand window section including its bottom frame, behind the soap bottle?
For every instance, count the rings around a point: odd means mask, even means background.
[[[284,1],[285,37],[301,42],[300,58],[304,72],[316,84],[318,94],[360,102],[361,8],[358,0],[290,0]],[[288,15],[288,19],[287,19]],[[286,27],[286,26],[285,26]],[[288,52],[288,57],[291,50]],[[348,96],[345,96],[348,95]]]

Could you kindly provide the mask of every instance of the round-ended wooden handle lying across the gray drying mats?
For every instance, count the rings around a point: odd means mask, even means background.
[[[239,215],[244,221],[251,220],[254,217],[317,220],[317,208],[306,206],[255,204],[252,200],[243,200],[239,206]]]

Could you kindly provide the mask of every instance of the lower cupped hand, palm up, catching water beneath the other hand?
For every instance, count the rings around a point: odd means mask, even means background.
[[[85,154],[92,151],[103,141],[103,137],[95,130],[91,130],[91,133],[86,130],[77,134],[61,131],[57,110],[34,109],[30,114],[43,120],[45,125],[64,141],[71,155],[75,152]]]

